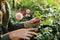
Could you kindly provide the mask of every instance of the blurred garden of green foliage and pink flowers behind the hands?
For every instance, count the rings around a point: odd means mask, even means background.
[[[60,39],[60,0],[7,0],[11,7],[11,21],[24,22],[40,18],[37,36],[31,40]]]

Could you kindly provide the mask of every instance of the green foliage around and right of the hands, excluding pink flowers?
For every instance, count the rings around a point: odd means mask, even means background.
[[[7,0],[12,8],[12,0]],[[59,40],[60,39],[60,0],[21,0],[21,5],[16,8],[35,10],[33,17],[42,19],[41,24],[37,26],[37,36],[31,40]],[[12,18],[14,21],[16,12],[12,10]],[[51,15],[51,16],[49,16]],[[44,17],[49,17],[44,20]],[[51,20],[54,20],[51,23]],[[48,25],[48,26],[44,26]]]

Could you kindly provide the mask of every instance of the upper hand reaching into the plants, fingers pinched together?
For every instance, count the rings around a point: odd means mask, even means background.
[[[32,27],[32,25],[38,25],[39,23],[40,23],[40,19],[36,17],[29,21],[24,22],[24,27],[30,28],[30,27]]]

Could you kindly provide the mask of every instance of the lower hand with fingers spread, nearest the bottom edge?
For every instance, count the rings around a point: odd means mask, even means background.
[[[14,40],[17,40],[17,39],[19,40],[20,38],[30,40],[30,37],[32,37],[33,35],[36,35],[36,33],[33,32],[33,30],[36,30],[36,29],[37,28],[19,29],[19,30],[9,32],[9,35],[10,35],[10,38]]]

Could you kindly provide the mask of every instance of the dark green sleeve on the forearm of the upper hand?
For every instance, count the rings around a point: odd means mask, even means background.
[[[24,28],[24,23],[12,23],[11,21],[9,21],[8,31],[13,31],[21,28]]]

